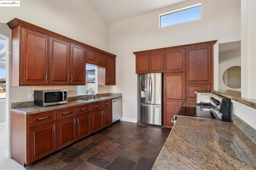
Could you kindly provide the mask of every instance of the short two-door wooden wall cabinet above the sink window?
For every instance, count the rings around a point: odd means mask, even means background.
[[[106,55],[92,49],[86,49],[86,63],[106,65]]]

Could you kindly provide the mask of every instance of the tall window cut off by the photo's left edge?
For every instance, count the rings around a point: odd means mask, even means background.
[[[0,99],[6,98],[6,40],[0,37]]]

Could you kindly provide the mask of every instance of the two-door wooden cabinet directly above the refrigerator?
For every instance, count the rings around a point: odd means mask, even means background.
[[[136,55],[136,73],[164,72],[164,57],[162,52]]]

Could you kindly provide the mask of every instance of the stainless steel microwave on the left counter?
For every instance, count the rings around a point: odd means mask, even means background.
[[[68,103],[68,90],[35,90],[34,105],[50,106]]]

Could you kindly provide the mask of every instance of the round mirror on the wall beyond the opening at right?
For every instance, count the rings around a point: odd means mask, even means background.
[[[241,67],[233,66],[226,69],[223,74],[223,81],[228,87],[241,88]]]

